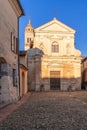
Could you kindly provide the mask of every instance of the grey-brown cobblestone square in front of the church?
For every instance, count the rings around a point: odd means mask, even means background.
[[[87,130],[86,98],[87,92],[32,93],[0,130]]]

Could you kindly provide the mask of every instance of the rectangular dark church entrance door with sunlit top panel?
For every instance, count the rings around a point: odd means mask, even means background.
[[[50,89],[60,90],[60,71],[50,71]]]

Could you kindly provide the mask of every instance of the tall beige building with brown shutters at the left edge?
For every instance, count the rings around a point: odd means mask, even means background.
[[[19,0],[0,0],[0,103],[19,98]]]

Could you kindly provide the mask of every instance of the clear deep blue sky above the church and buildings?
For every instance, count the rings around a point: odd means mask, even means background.
[[[87,55],[87,0],[20,0],[25,16],[20,17],[20,50],[24,49],[24,31],[29,19],[34,28],[56,17],[76,30],[75,47]]]

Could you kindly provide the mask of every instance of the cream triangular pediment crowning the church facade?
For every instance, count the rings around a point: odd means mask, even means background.
[[[51,32],[51,31],[56,31],[56,32],[71,32],[75,33],[75,30],[70,28],[69,26],[63,24],[62,22],[58,21],[56,18],[54,18],[52,21],[38,27],[35,29],[35,31],[40,31],[40,32]]]

